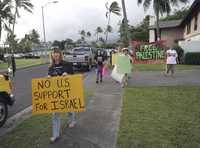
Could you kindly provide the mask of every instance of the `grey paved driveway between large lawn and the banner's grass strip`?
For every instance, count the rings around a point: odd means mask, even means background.
[[[200,85],[200,69],[179,70],[175,76],[164,76],[161,71],[134,72],[129,81],[130,86],[174,86]]]

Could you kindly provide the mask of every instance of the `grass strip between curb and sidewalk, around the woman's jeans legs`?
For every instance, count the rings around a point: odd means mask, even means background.
[[[86,102],[91,95],[92,92],[85,93]],[[63,131],[67,126],[67,118],[64,113],[61,117]],[[51,131],[51,114],[34,115],[0,137],[0,148],[47,148]]]

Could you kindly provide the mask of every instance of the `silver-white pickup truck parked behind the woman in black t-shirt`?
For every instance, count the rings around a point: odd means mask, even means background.
[[[94,54],[90,47],[76,47],[69,52],[64,52],[64,60],[73,64],[76,68],[91,70],[94,64]]]

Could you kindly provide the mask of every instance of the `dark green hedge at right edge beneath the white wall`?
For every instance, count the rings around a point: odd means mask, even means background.
[[[200,65],[200,52],[186,53],[185,64]]]

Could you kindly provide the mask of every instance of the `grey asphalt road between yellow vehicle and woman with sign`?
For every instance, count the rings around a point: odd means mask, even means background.
[[[14,78],[14,94],[16,102],[9,107],[9,117],[24,110],[31,105],[31,80],[32,78],[44,77],[47,75],[47,65],[31,67],[18,70]],[[89,72],[87,75],[90,75]],[[87,86],[87,79],[85,81]]]

